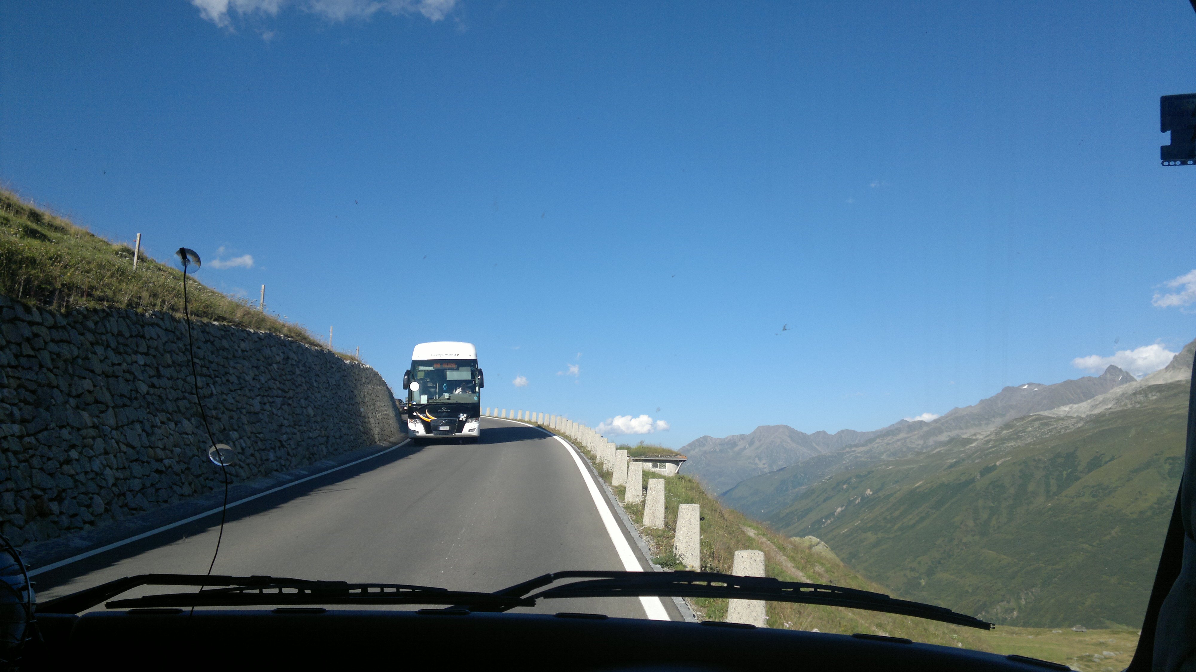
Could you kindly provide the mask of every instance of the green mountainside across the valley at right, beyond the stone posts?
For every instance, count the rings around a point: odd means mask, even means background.
[[[1026,416],[837,474],[769,521],[908,599],[1009,625],[1136,627],[1183,469],[1188,390],[1149,385],[1117,410]]]

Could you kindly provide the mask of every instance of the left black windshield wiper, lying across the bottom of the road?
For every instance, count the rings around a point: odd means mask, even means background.
[[[444,604],[469,603],[478,610],[506,611],[535,606],[536,600],[471,591],[448,591],[403,584],[349,584],[277,576],[205,576],[140,574],[55,598],[37,605],[39,613],[79,613],[138,586],[226,586],[195,593],[167,593],[109,601],[109,609],[169,606],[261,606],[315,604]]]

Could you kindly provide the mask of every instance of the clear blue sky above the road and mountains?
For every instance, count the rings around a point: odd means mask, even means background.
[[[1183,0],[8,0],[0,182],[396,386],[462,340],[488,407],[873,429],[1196,337],[1194,48]]]

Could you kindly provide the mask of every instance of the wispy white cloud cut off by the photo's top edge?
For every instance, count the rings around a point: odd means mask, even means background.
[[[368,19],[378,12],[392,16],[421,14],[428,20],[439,22],[453,11],[457,0],[191,0],[191,5],[199,7],[203,19],[231,30],[233,14],[240,18],[255,14],[275,17],[286,5],[297,5],[331,23]],[[270,36],[273,37],[273,32]]]

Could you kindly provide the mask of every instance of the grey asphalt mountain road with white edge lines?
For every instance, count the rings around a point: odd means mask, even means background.
[[[624,569],[569,451],[537,428],[482,422],[478,445],[407,444],[230,509],[213,573],[490,592],[549,572]],[[610,506],[605,496],[600,505]],[[35,578],[38,597],[134,574],[202,574],[218,524],[213,515],[45,572]],[[622,525],[617,533],[630,539]],[[175,592],[126,595],[167,591]],[[636,598],[551,600],[517,611],[646,617]]]

